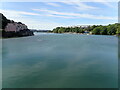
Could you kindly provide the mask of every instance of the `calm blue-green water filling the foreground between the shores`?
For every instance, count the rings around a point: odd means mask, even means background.
[[[3,88],[117,88],[118,38],[36,34],[3,40]]]

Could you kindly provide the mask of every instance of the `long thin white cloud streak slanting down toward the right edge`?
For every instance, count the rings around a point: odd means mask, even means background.
[[[71,13],[71,12],[58,12],[48,9],[32,9],[34,11],[45,12],[46,15],[54,17],[63,17],[63,18],[88,18],[88,19],[105,19],[105,20],[116,20],[117,17],[109,17],[103,15],[92,15],[92,14],[80,14],[80,13]]]

